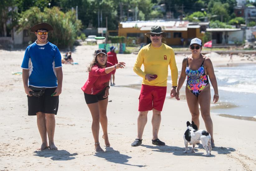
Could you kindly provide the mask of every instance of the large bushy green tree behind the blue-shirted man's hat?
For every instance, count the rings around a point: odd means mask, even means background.
[[[76,20],[75,12],[68,11],[66,13],[59,10],[58,7],[45,8],[43,12],[38,7],[31,7],[21,13],[19,20],[19,31],[28,29],[40,22],[47,22],[53,26],[54,32],[49,34],[49,41],[57,45],[59,48],[72,48],[76,40],[77,33],[82,27],[80,20]],[[35,35],[31,34],[31,40],[35,39]]]

